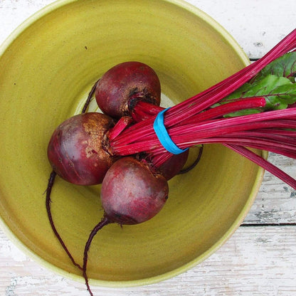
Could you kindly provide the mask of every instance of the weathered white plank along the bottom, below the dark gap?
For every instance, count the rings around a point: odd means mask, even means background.
[[[186,273],[144,287],[93,287],[100,296],[295,296],[296,226],[240,227],[216,253]],[[81,282],[51,273],[0,232],[0,295],[87,296]]]

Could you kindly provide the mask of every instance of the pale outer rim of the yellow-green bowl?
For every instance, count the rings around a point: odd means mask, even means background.
[[[23,31],[26,30],[26,28],[30,27],[38,21],[43,16],[46,16],[47,14],[50,14],[52,11],[55,11],[57,9],[60,9],[60,7],[65,6],[67,4],[71,4],[75,1],[79,0],[57,0],[54,1],[51,4],[48,4],[44,6],[42,9],[39,9],[34,14],[26,18],[25,21],[23,21],[20,25],[18,25],[14,31],[12,31],[9,36],[4,40],[3,43],[0,44],[0,58],[5,53],[5,51],[11,46],[12,43],[18,38],[18,35],[20,35]],[[175,6],[179,6],[181,9],[186,9],[191,14],[194,14],[195,16],[198,16],[201,18],[204,22],[208,23],[214,30],[216,30],[222,38],[226,40],[226,42],[233,48],[234,51],[238,54],[238,58],[242,61],[242,63],[246,66],[250,63],[250,60],[246,53],[243,51],[243,49],[239,46],[237,41],[231,36],[226,29],[221,26],[220,23],[218,23],[216,20],[214,20],[211,16],[208,16],[204,11],[201,11],[198,7],[194,6],[193,4],[189,4],[185,0],[161,0],[163,2],[167,2],[169,4],[173,4]],[[266,159],[268,157],[268,152],[262,151],[262,156]],[[169,272],[163,273],[162,275],[156,275],[153,277],[148,278],[142,278],[138,280],[127,280],[127,281],[109,281],[109,280],[95,280],[90,278],[90,285],[96,285],[100,287],[137,287],[137,286],[143,286],[143,285],[150,285],[157,282],[162,282],[164,280],[168,280],[172,277],[175,277],[176,275],[180,275],[181,273],[186,272],[187,270],[190,270],[191,268],[194,268],[194,266],[198,265],[202,261],[206,260],[210,255],[216,252],[218,248],[221,248],[221,246],[226,243],[226,241],[232,236],[232,234],[236,231],[236,229],[240,226],[240,224],[243,222],[243,219],[248,214],[248,211],[250,210],[250,207],[253,205],[253,201],[255,200],[255,197],[258,194],[258,191],[260,189],[260,185],[263,181],[263,175],[265,170],[260,168],[258,166],[258,173],[255,176],[255,182],[253,184],[252,191],[250,192],[250,196],[248,198],[248,202],[245,203],[245,206],[243,206],[242,211],[236,218],[236,221],[233,222],[231,227],[228,229],[226,233],[215,243],[212,245],[211,248],[206,250],[205,253],[200,255],[199,257],[195,258],[194,260],[191,260],[189,263],[186,263],[185,265],[182,265],[179,268],[175,268],[174,270],[171,270]],[[52,263],[49,263],[47,260],[39,257],[33,250],[28,248],[21,240],[17,238],[17,236],[14,234],[14,232],[9,228],[9,226],[4,222],[3,218],[0,216],[0,228],[4,231],[4,234],[11,240],[16,247],[23,251],[25,255],[28,255],[28,257],[32,258],[36,263],[42,265],[43,267],[47,268],[50,271],[53,271],[54,273],[68,278],[69,280],[75,280],[78,282],[84,282],[84,279],[81,275],[75,275],[73,273],[68,273],[62,268],[58,268],[56,265],[53,265]]]

